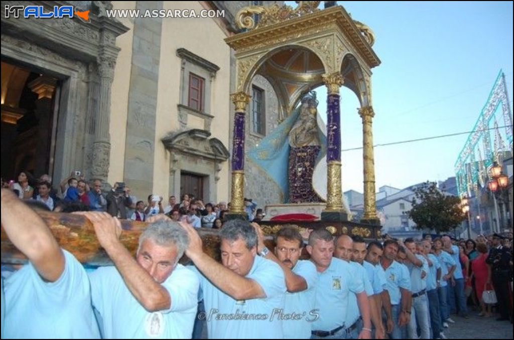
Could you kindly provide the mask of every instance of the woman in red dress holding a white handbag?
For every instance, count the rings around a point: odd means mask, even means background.
[[[485,262],[487,258],[487,246],[485,243],[477,243],[476,250],[480,253],[473,261],[471,261],[471,277],[475,278],[475,291],[476,296],[480,299],[480,306],[482,307],[482,312],[479,316],[489,317],[491,316],[491,305],[485,303],[483,294],[492,290],[491,284],[491,269],[489,265]]]

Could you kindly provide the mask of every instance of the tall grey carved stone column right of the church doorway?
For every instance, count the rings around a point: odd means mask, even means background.
[[[99,109],[95,117],[95,140],[91,155],[91,178],[107,181],[109,160],[111,156],[111,137],[109,123],[111,120],[111,85],[114,78],[116,57],[104,53],[100,55],[98,71],[100,75]]]

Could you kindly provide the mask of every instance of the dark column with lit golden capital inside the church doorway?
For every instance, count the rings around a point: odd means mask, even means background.
[[[42,75],[28,84],[32,92],[37,93],[38,100],[35,102],[34,115],[38,119],[38,142],[35,149],[34,175],[41,176],[48,174],[50,153],[50,136],[52,133],[52,97],[56,90],[57,80]]]

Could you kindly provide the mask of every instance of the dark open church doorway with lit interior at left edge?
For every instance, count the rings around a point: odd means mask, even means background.
[[[2,58],[2,179],[52,176],[60,82]]]

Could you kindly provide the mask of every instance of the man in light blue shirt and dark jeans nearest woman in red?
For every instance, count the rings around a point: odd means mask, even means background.
[[[469,318],[468,308],[466,306],[466,294],[464,293],[464,284],[466,283],[466,279],[462,275],[462,266],[461,260],[458,258],[458,247],[457,245],[453,245],[451,243],[451,239],[448,236],[443,236],[443,250],[450,254],[453,257],[453,261],[455,261],[456,268],[453,271],[453,279],[455,280],[455,286],[449,285],[448,288],[448,296],[447,300],[449,303],[448,308],[450,309],[450,314],[456,314],[457,309],[455,305],[455,300],[457,301],[458,306],[458,314],[464,318]],[[467,273],[466,273],[467,275]]]

